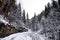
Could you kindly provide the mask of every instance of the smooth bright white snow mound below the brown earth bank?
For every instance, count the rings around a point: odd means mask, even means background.
[[[10,35],[8,37],[5,37],[1,40],[32,40],[32,39],[27,34],[16,33],[16,34]]]

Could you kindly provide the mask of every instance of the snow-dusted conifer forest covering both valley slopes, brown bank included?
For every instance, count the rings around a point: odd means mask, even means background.
[[[0,38],[30,30],[29,35],[35,36],[32,40],[40,40],[41,35],[45,37],[43,40],[60,40],[60,0],[48,2],[45,9],[39,15],[34,13],[31,19],[25,9],[22,11],[21,3],[16,5],[15,2],[0,0]]]

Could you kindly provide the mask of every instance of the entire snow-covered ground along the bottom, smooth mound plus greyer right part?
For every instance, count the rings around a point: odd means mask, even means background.
[[[45,40],[42,35],[35,34],[33,32],[15,33],[1,40]]]

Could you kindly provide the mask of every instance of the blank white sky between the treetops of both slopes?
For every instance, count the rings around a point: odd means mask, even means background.
[[[29,18],[40,14],[44,10],[45,5],[51,0],[17,0],[17,3],[21,3],[22,9],[25,9],[26,13],[29,13]]]

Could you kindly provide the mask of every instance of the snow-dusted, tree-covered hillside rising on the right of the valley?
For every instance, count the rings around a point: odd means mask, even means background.
[[[30,23],[33,31],[45,35],[49,40],[60,39],[60,2],[52,1],[45,6],[45,10],[38,16],[34,16]],[[39,26],[40,25],[40,26]],[[37,30],[39,29],[39,30]]]

